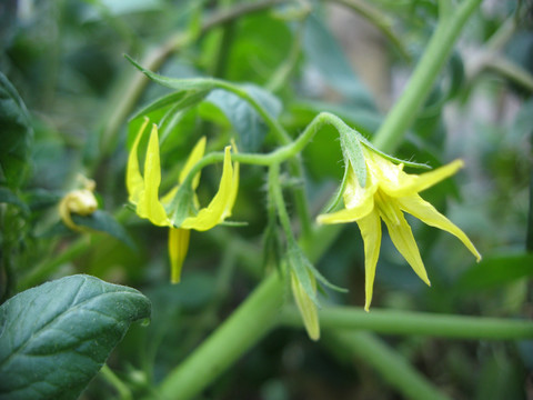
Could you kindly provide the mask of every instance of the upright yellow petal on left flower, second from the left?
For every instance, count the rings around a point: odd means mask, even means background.
[[[170,226],[163,204],[159,201],[159,184],[161,183],[161,163],[159,160],[158,127],[152,126],[148,142],[147,158],[144,160],[144,190],[139,196],[137,213],[148,218],[159,227]]]

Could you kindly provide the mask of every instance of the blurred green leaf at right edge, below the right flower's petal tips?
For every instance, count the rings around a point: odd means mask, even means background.
[[[533,276],[533,254],[505,254],[484,258],[457,280],[459,291],[495,288]]]

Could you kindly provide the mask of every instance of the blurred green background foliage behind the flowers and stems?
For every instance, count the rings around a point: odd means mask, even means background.
[[[165,230],[124,208],[128,118],[168,91],[135,83],[140,73],[123,53],[165,76],[263,87],[279,99],[270,99],[272,107],[294,136],[316,113],[331,111],[371,138],[422,54],[436,17],[432,0],[4,0],[0,70],[20,94],[19,106],[26,104],[27,120],[0,128],[4,151],[17,132],[21,160],[0,171],[2,299],[77,272],[140,289],[153,303],[151,324],[131,329],[109,364],[134,398],[150,393],[262,276],[265,177],[262,168],[242,167],[233,218],[249,224],[193,231],[183,281],[168,283]],[[432,167],[465,160],[459,176],[424,198],[471,237],[483,261],[475,264],[454,238],[412,219],[432,287],[384,238],[374,307],[532,317],[532,28],[531,1],[483,1],[395,153]],[[261,120],[237,112],[242,104],[221,96],[172,121],[161,149],[170,177],[201,134],[220,149],[233,130],[250,131],[241,147],[272,149]],[[313,214],[342,174],[335,138],[324,128],[302,154]],[[57,203],[79,173],[95,180],[109,222],[97,228],[111,236],[80,236],[59,223]],[[170,187],[164,177],[163,186]],[[217,174],[210,177],[208,169],[203,177],[199,196],[209,199]],[[355,224],[344,227],[316,267],[350,289],[323,301],[363,304]],[[454,399],[533,398],[531,342],[384,339]],[[278,329],[202,398],[400,398],[364,360],[345,360],[331,350],[326,338],[313,343],[303,330]],[[117,397],[100,376],[83,394]]]

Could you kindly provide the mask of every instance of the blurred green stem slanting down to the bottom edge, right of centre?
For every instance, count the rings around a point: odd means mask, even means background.
[[[413,369],[405,358],[372,334],[368,332],[334,331],[329,332],[325,339],[328,338],[341,344],[343,350],[350,350],[365,364],[372,366],[405,399],[450,399]]]

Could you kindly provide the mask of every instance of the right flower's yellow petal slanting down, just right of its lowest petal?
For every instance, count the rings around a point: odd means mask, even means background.
[[[391,237],[392,242],[403,258],[409,262],[411,268],[416,272],[416,274],[429,286],[431,286],[430,280],[428,279],[428,273],[425,272],[424,263],[420,257],[419,247],[414,240],[413,232],[409,226],[403,212],[400,210],[396,203],[394,203],[396,209],[396,223],[390,219],[383,218],[383,221],[386,224],[389,230],[389,236]]]

